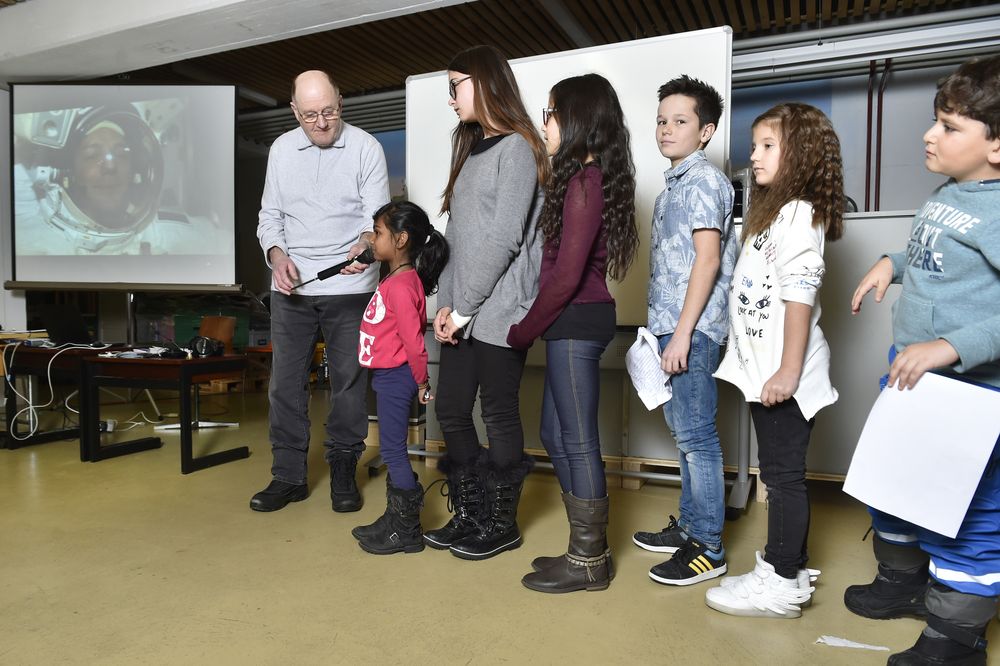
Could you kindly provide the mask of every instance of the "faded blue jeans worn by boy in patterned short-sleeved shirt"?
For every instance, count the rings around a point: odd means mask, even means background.
[[[672,333],[659,336],[661,352],[672,337]],[[687,372],[670,379],[673,397],[663,406],[680,458],[680,527],[712,550],[722,546],[726,504],[722,445],[715,429],[719,391],[712,376],[719,367],[721,351],[711,338],[695,331]]]

